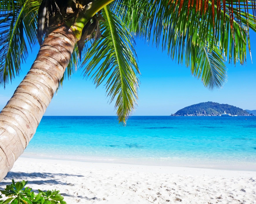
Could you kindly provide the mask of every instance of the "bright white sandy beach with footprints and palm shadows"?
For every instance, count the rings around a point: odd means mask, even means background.
[[[256,203],[256,172],[19,158],[0,183],[28,180],[67,203]]]

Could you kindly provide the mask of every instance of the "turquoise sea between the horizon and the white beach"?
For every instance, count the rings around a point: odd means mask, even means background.
[[[256,117],[43,117],[24,156],[256,171]]]

